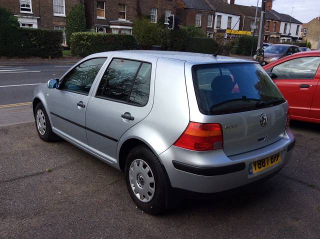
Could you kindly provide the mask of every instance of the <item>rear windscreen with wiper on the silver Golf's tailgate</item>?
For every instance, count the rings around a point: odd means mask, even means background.
[[[285,102],[256,63],[193,65],[192,77],[198,107],[203,114],[243,112]]]

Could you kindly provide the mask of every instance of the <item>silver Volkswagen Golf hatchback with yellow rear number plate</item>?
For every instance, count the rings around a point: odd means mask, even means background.
[[[295,142],[287,110],[256,62],[170,51],[89,55],[33,97],[41,139],[122,170],[152,214],[173,191],[214,193],[278,172]]]

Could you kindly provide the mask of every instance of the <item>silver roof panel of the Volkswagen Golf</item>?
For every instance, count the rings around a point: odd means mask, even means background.
[[[211,54],[203,54],[203,53],[193,53],[193,52],[182,52],[182,51],[164,51],[164,50],[119,50],[119,51],[106,51],[106,52],[100,52],[90,55],[90,57],[104,57],[110,54],[115,54],[121,56],[123,55],[130,55],[130,57],[134,56],[155,56],[155,57],[162,57],[162,58],[170,58],[170,59],[176,59],[176,60],[183,60],[187,62],[191,62],[194,64],[197,63],[230,63],[230,62],[255,62],[252,60],[245,60],[245,59],[239,59],[229,56],[213,56]],[[106,55],[107,54],[107,55]]]

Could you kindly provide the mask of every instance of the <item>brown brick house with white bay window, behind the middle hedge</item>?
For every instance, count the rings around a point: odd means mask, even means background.
[[[96,32],[131,34],[136,17],[154,23],[175,13],[175,0],[85,0],[87,28]]]

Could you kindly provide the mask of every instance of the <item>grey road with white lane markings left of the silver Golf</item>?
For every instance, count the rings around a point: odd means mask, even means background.
[[[33,89],[37,84],[61,77],[72,65],[72,63],[0,65],[0,105],[31,102]]]

